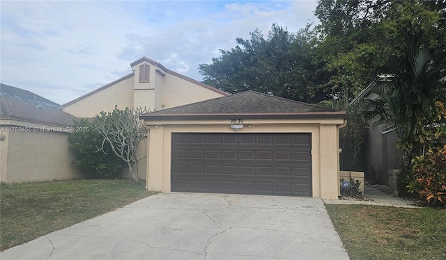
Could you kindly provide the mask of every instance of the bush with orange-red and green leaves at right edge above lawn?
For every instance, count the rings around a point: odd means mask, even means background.
[[[446,145],[431,148],[424,156],[412,160],[413,177],[407,186],[429,206],[446,206]]]

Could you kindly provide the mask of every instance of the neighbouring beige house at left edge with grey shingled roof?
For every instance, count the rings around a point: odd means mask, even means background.
[[[79,179],[68,136],[77,119],[44,97],[1,84],[0,181]]]

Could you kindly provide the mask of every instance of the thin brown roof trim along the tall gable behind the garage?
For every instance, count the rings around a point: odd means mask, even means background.
[[[196,81],[196,80],[194,80],[194,79],[191,79],[191,78],[189,78],[189,77],[187,77],[187,76],[184,76],[184,75],[182,75],[182,74],[179,74],[179,73],[177,73],[177,72],[174,72],[173,70],[169,70],[169,69],[167,69],[166,67],[164,67],[163,65],[161,65],[160,63],[157,63],[155,60],[151,60],[150,58],[147,58],[147,57],[142,57],[142,58],[140,58],[139,60],[135,60],[133,63],[130,63],[130,67],[133,67],[134,65],[138,65],[139,63],[142,63],[142,62],[144,62],[144,61],[147,62],[147,63],[150,63],[150,64],[152,64],[152,65],[155,65],[155,66],[157,66],[157,67],[160,67],[160,69],[161,69],[161,70],[164,70],[164,72],[166,72],[166,73],[168,73],[168,74],[172,74],[172,75],[174,75],[174,76],[178,76],[178,78],[180,78],[180,79],[184,79],[184,80],[186,80],[186,81],[190,81],[190,82],[192,82],[192,83],[194,83],[194,84],[196,84],[196,85],[198,85],[198,86],[201,86],[201,87],[203,87],[203,88],[207,88],[208,90],[213,90],[213,91],[215,91],[215,92],[217,92],[217,93],[220,93],[220,94],[222,94],[222,95],[225,95],[225,96],[226,96],[226,95],[229,95],[228,93],[223,92],[222,90],[217,90],[217,88],[213,88],[213,87],[208,86],[208,85],[206,85],[206,84],[204,84],[204,83],[201,83],[201,82],[199,82],[199,81]],[[130,74],[128,74],[128,75],[125,75],[125,76],[123,76],[121,79],[117,79],[116,81],[113,81],[112,83],[108,83],[108,84],[105,85],[105,86],[102,86],[102,87],[100,87],[100,88],[98,88],[98,89],[96,89],[96,90],[93,90],[93,91],[87,93],[86,95],[83,95],[82,97],[78,97],[77,99],[73,99],[72,101],[69,101],[68,103],[63,104],[63,105],[62,105],[62,108],[66,107],[66,106],[69,106],[69,105],[71,105],[71,104],[74,104],[74,103],[76,103],[76,102],[79,101],[79,100],[82,100],[82,99],[84,99],[84,98],[86,98],[86,97],[89,97],[89,96],[91,96],[91,95],[93,95],[93,94],[95,94],[95,93],[97,93],[97,92],[100,92],[101,90],[105,90],[106,88],[109,88],[109,87],[111,87],[111,86],[114,86],[116,83],[119,83],[119,82],[121,82],[121,81],[124,81],[125,79],[128,79],[128,78],[130,78],[130,77],[132,77],[132,76],[134,76],[134,72],[132,72],[132,73],[130,73]]]

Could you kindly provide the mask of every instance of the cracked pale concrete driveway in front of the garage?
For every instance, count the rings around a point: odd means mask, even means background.
[[[348,259],[348,254],[320,199],[160,193],[0,257]]]

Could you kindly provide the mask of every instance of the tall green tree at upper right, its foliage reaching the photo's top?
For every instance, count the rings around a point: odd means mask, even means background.
[[[316,16],[332,99],[351,101],[374,81],[376,67],[407,53],[407,33],[424,33],[420,46],[445,49],[444,1],[320,1]],[[345,106],[346,102],[339,102]]]

